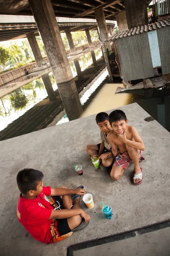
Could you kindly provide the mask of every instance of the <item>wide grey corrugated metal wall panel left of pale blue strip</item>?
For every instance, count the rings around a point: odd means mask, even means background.
[[[124,81],[154,76],[147,33],[115,40]]]

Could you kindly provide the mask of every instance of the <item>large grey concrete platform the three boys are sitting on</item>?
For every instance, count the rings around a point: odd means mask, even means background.
[[[71,244],[98,239],[170,219],[170,133],[158,122],[145,122],[149,116],[138,104],[123,106],[130,125],[142,136],[146,160],[141,163],[144,180],[133,186],[133,164],[119,181],[107,172],[95,172],[85,145],[99,142],[95,115],[46,128],[31,134],[0,142],[0,253],[3,256],[66,256]],[[110,113],[111,111],[107,111]],[[81,163],[83,176],[74,172]],[[81,207],[91,215],[88,227],[57,244],[45,245],[35,241],[17,221],[16,207],[19,191],[17,172],[35,168],[44,173],[44,186],[83,184],[94,196],[94,208]],[[102,214],[100,201],[111,204],[113,218]],[[140,244],[141,246],[141,244]]]

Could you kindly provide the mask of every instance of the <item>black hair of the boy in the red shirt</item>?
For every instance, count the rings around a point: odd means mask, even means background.
[[[43,173],[35,169],[23,169],[17,174],[17,185],[24,195],[29,190],[37,191],[37,184],[44,177]]]

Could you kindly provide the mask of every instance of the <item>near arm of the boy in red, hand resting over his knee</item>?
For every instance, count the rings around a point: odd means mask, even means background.
[[[75,215],[80,215],[85,219],[85,223],[90,220],[90,216],[83,209],[62,209],[62,210],[51,210],[50,220],[52,219],[63,219],[70,218]]]

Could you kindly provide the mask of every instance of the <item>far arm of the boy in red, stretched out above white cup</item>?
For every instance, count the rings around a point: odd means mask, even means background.
[[[62,188],[51,188],[51,196],[54,195],[85,195],[84,189],[62,189]]]

